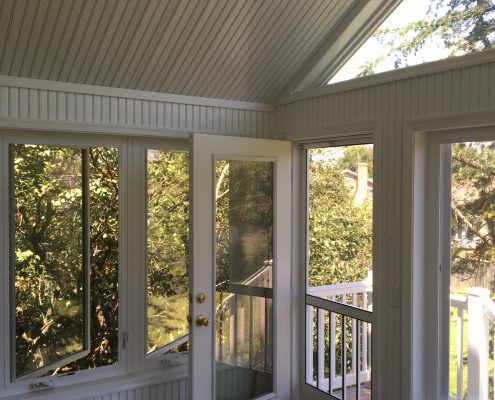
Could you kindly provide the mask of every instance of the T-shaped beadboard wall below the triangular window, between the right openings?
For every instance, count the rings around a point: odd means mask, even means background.
[[[408,192],[402,182],[408,162],[404,161],[404,146],[410,143],[406,135],[411,134],[408,124],[413,121],[457,121],[464,117],[471,121],[477,121],[477,118],[495,121],[495,53],[480,56],[483,62],[476,62],[476,57],[470,59],[475,62],[463,60],[470,65],[460,67],[448,67],[443,61],[411,68],[407,78],[391,80],[389,76],[384,79],[377,75],[360,82],[337,84],[333,88],[314,91],[317,95],[313,97],[302,94],[299,99],[276,107],[275,136],[279,139],[310,140],[349,133],[353,127],[362,132],[367,126],[378,133],[375,154],[379,154],[377,167],[381,179],[377,182],[379,192],[375,204],[381,217],[375,227],[377,240],[382,245],[378,250],[381,265],[375,266],[375,272],[382,277],[382,296],[376,308],[380,309],[379,341],[383,351],[374,373],[379,374],[381,382],[387,383],[380,386],[380,398],[383,399],[406,399],[414,386],[405,382],[407,371],[401,369],[401,365],[409,365],[409,360],[401,357],[404,357],[403,346],[410,339],[410,333],[401,329],[401,326],[409,326],[401,310],[401,301],[405,301],[401,296],[411,289],[410,271],[403,267],[407,253],[404,246],[408,245],[403,243],[402,230],[403,193]],[[455,63],[454,60],[451,65]],[[438,71],[431,72],[436,66]],[[425,69],[430,72],[421,73]],[[402,72],[394,71],[390,76],[400,77],[401,74],[404,76]],[[392,299],[394,294],[397,297]]]

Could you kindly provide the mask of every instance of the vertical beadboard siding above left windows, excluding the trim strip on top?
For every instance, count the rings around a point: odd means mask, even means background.
[[[0,125],[272,137],[274,112],[0,85]],[[7,125],[8,126],[8,125]],[[132,132],[130,132],[132,133]]]

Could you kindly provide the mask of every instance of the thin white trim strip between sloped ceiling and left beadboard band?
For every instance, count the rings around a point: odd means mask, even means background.
[[[219,108],[232,108],[250,111],[274,112],[271,104],[252,103],[238,100],[211,99],[207,97],[184,96],[178,94],[146,92],[95,85],[83,85],[80,83],[68,83],[59,81],[47,81],[42,79],[21,78],[15,76],[0,75],[0,86],[13,86],[26,89],[52,90],[56,92],[69,92],[79,94],[91,94],[109,97],[121,97],[126,99],[163,101],[166,103],[198,105]]]

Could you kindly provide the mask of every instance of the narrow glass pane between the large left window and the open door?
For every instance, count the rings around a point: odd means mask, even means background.
[[[189,327],[189,157],[148,150],[148,353],[186,350]]]

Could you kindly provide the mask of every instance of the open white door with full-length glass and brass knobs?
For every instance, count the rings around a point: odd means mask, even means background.
[[[291,145],[196,134],[191,161],[189,397],[289,399]]]

